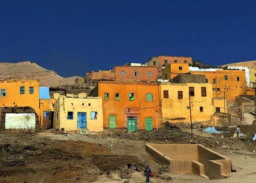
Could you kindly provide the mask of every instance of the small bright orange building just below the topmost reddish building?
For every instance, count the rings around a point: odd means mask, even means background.
[[[181,73],[189,72],[189,64],[185,63],[170,63],[162,69],[163,79],[172,79]]]

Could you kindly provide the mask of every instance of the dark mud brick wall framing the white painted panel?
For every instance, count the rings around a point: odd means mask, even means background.
[[[40,129],[38,114],[32,107],[0,107],[0,131],[6,130],[5,118],[6,113],[35,113],[35,130]]]

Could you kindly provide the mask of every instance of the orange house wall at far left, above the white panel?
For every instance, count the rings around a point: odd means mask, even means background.
[[[24,94],[20,94],[21,86]],[[29,87],[34,87],[34,94],[29,94]],[[6,96],[0,96],[0,107],[32,107],[40,116],[38,80],[0,80],[0,89],[6,89]]]

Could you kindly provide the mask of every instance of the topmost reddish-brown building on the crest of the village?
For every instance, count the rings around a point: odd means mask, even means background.
[[[148,58],[148,62],[145,64],[147,66],[157,66],[157,76],[161,78],[162,76],[162,67],[166,67],[170,63],[188,63],[192,64],[192,57],[182,57],[182,56],[167,56],[159,55]]]

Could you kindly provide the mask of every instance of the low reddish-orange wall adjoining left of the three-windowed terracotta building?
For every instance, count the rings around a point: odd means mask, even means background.
[[[93,81],[100,81],[100,80],[114,80],[115,79],[115,73],[113,73],[111,70],[109,71],[102,71],[99,70],[99,72],[90,72],[85,74],[85,82],[92,84]]]

